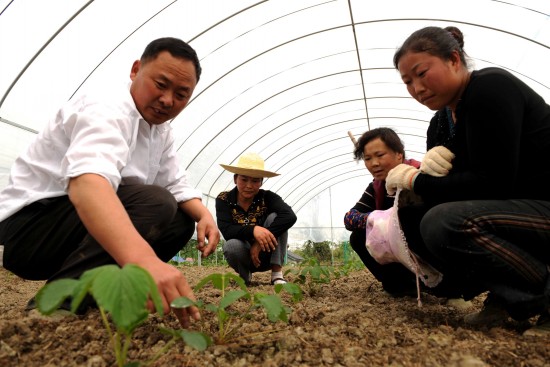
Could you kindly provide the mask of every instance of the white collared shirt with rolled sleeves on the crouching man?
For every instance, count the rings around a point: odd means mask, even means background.
[[[75,97],[59,109],[11,167],[0,192],[0,221],[44,198],[67,195],[72,177],[95,173],[119,185],[168,189],[178,202],[202,198],[179,167],[169,122],[150,126],[128,85]]]

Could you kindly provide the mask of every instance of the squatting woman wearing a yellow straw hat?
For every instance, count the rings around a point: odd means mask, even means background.
[[[271,283],[285,283],[282,265],[288,229],[296,215],[283,199],[262,190],[264,177],[278,173],[264,169],[256,153],[243,154],[236,165],[220,164],[233,173],[235,187],[216,198],[218,227],[225,238],[223,253],[229,265],[250,285],[252,273],[271,269]]]

